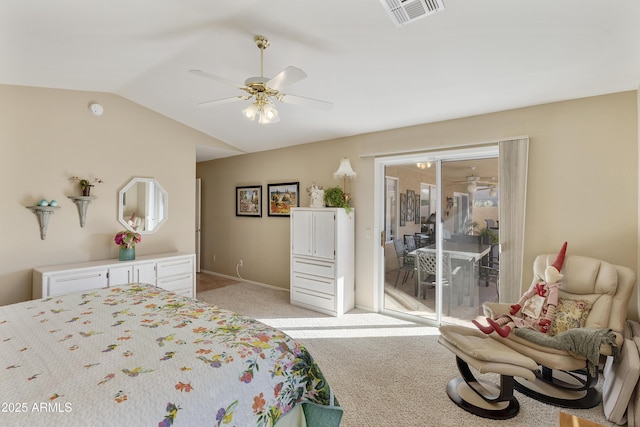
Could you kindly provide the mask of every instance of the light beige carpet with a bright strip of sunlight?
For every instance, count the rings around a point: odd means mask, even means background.
[[[459,376],[455,358],[437,343],[436,328],[357,309],[340,318],[330,317],[290,305],[286,291],[250,283],[201,292],[197,297],[258,319],[302,342],[344,407],[345,427],[558,425],[561,408],[520,393],[516,393],[520,413],[507,421],[487,420],[458,408],[445,391],[449,380]],[[615,426],[606,421],[602,405],[562,411]]]

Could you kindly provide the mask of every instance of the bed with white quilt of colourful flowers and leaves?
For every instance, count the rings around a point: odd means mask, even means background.
[[[0,360],[2,425],[337,426],[342,416],[300,343],[145,284],[0,307]]]

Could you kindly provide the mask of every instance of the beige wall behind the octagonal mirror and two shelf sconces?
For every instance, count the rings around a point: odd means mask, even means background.
[[[104,107],[89,114],[90,101]],[[194,250],[195,144],[206,135],[118,96],[0,85],[0,305],[31,298],[31,269],[117,257],[117,194],[134,177],[157,178],[169,194],[169,219],[143,235],[138,254]],[[80,227],[69,177],[98,177]],[[25,206],[56,199],[61,209],[40,240]]]

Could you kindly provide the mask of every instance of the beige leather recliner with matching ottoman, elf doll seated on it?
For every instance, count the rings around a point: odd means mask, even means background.
[[[540,255],[533,265],[534,283],[544,277],[554,255]],[[562,270],[556,333],[565,328],[611,329],[618,348],[624,342],[627,304],[635,285],[635,273],[622,266],[593,258],[567,256]],[[487,317],[508,313],[510,304],[485,303]],[[449,382],[447,393],[458,406],[486,418],[507,419],[519,411],[514,388],[534,399],[556,406],[590,408],[600,402],[587,356],[535,344],[516,336],[485,335],[475,328],[447,325],[439,342],[451,350],[462,378]],[[602,356],[613,354],[611,345],[600,347]],[[478,380],[480,374],[500,374],[500,384]]]

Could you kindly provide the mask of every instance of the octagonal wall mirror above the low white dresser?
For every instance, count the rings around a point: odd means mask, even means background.
[[[153,178],[133,178],[118,194],[118,220],[127,230],[155,233],[168,215],[167,192]]]

